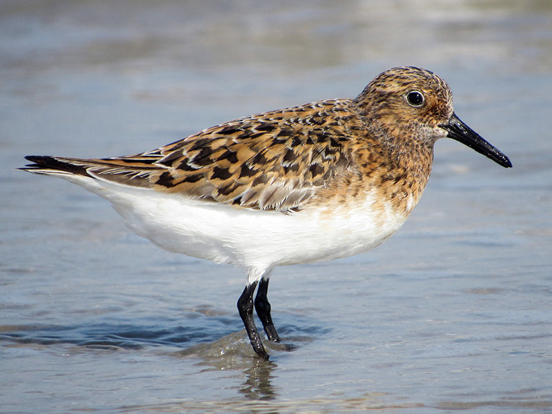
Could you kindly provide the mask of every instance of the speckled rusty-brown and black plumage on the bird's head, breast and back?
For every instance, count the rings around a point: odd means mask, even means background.
[[[66,163],[120,184],[284,213],[328,199],[342,202],[385,182],[386,198],[406,209],[402,201],[412,192],[417,201],[431,170],[434,140],[416,139],[420,125],[437,126],[452,112],[446,83],[426,70],[415,75],[395,68],[354,100],[236,119],[137,155],[55,157],[57,168]],[[401,99],[413,88],[428,97],[423,111]]]

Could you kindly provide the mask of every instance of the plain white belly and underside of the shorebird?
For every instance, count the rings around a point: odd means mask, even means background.
[[[382,203],[375,203],[374,193],[331,210],[324,206],[284,214],[71,178],[108,199],[135,233],[158,246],[249,269],[362,253],[382,243],[406,220],[406,214],[393,213],[391,206],[375,208]]]

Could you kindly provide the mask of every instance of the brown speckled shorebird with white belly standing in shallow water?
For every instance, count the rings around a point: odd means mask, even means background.
[[[253,350],[268,359],[253,308],[268,340],[279,342],[267,299],[273,268],[384,242],[420,199],[433,144],[444,137],[512,166],[455,115],[444,80],[400,67],[355,99],[235,119],[136,155],[28,156],[34,164],[21,169],[107,199],[131,230],[162,248],[243,268],[239,315]]]

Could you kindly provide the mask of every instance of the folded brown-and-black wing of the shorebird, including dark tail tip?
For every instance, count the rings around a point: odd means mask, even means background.
[[[358,129],[364,125],[350,101],[320,101],[229,121],[137,155],[48,157],[50,165],[28,157],[36,164],[26,169],[86,174],[237,208],[300,210],[350,172],[346,143]]]

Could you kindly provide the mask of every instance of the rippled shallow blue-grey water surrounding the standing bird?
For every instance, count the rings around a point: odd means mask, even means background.
[[[0,406],[6,413],[552,411],[546,1],[3,1]],[[377,249],[278,268],[259,362],[239,270],[172,255],[23,155],[124,155],[221,121],[442,75],[513,161],[457,142]]]

